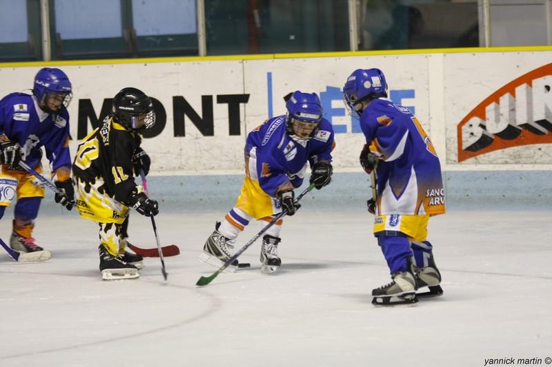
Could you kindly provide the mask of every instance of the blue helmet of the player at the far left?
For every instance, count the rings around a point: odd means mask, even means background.
[[[55,113],[61,104],[67,107],[72,98],[71,82],[67,75],[55,67],[43,67],[34,77],[32,93],[37,97],[39,106],[46,112]],[[56,103],[48,103],[48,97],[54,96]],[[52,109],[51,106],[57,106]]]

